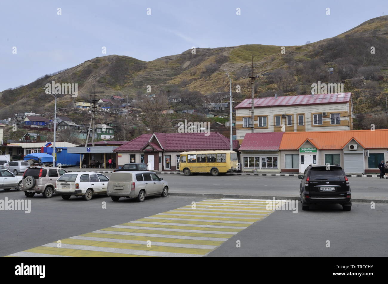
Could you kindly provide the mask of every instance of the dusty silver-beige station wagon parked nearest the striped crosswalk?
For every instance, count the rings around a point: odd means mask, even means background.
[[[168,189],[168,182],[153,172],[128,170],[111,174],[107,194],[113,201],[118,201],[120,197],[135,197],[143,202],[146,196],[160,194],[166,197]]]

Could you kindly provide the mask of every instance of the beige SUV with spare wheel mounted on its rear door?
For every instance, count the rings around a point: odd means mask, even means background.
[[[43,197],[50,198],[58,177],[66,173],[66,170],[56,167],[28,167],[23,175],[22,190],[27,197],[42,193]]]

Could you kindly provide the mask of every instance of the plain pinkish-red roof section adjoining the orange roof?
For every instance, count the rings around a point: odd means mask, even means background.
[[[283,132],[247,133],[239,151],[279,150]]]

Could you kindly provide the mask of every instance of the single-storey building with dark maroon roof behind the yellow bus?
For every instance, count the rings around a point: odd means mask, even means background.
[[[142,134],[116,148],[117,164],[151,163],[154,170],[179,170],[180,153],[196,150],[229,150],[229,139],[217,132]],[[233,141],[233,149],[239,149]]]

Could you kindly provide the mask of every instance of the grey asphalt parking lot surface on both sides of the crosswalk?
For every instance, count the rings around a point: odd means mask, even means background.
[[[0,199],[5,197],[27,199],[22,192],[0,191]],[[133,199],[113,202],[107,196],[95,196],[90,201],[81,197],[62,200],[60,196],[45,199],[40,194],[31,198],[29,214],[0,211],[0,256],[138,220],[204,199],[150,197],[143,203],[137,203]],[[104,201],[106,209],[102,208]],[[340,205],[312,207],[310,211],[302,211],[299,205],[298,213],[275,211],[239,231],[207,256],[387,256],[387,210],[388,204],[376,203],[376,208],[371,209],[369,203],[353,203],[350,212],[343,212]],[[241,242],[240,248],[236,247],[237,240]],[[327,241],[330,241],[330,248],[326,247]]]

